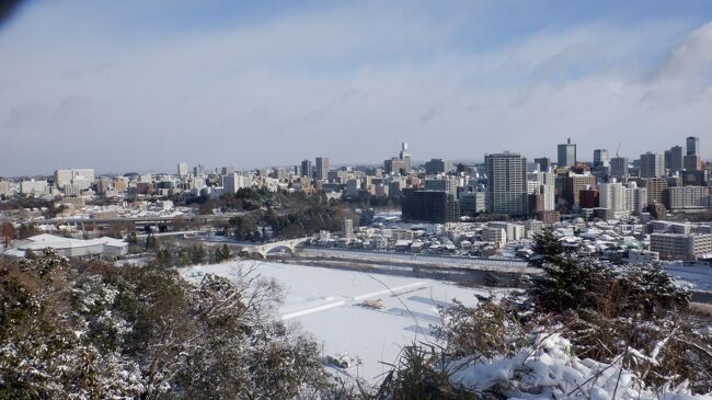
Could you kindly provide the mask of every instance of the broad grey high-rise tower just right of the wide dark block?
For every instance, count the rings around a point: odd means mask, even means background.
[[[484,157],[487,171],[487,210],[527,215],[527,159],[514,152]]]

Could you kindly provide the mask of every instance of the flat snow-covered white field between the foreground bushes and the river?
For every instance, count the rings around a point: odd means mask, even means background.
[[[231,262],[182,268],[181,273],[196,282],[205,273],[234,277],[240,267],[240,262]],[[322,342],[324,356],[348,353],[360,358],[360,366],[346,372],[367,380],[387,372],[389,367],[381,362],[393,363],[403,345],[434,340],[429,327],[440,323],[438,305],[457,298],[472,306],[475,293],[487,294],[440,281],[294,264],[265,262],[257,272],[285,286],[279,308],[284,320],[311,332]],[[366,299],[382,299],[384,308],[366,308],[361,306]]]

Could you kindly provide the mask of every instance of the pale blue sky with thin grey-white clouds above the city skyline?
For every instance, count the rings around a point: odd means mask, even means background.
[[[38,0],[0,25],[0,176],[701,137],[711,1]]]

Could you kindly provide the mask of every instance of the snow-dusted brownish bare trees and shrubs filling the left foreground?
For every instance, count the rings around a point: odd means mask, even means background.
[[[72,262],[0,265],[2,399],[290,399],[319,392],[319,346],[275,318],[273,282]]]

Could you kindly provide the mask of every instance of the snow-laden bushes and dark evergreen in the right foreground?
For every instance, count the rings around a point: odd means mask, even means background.
[[[657,399],[712,395],[712,324],[658,265],[610,265],[537,238],[526,293],[443,310],[377,398]]]

